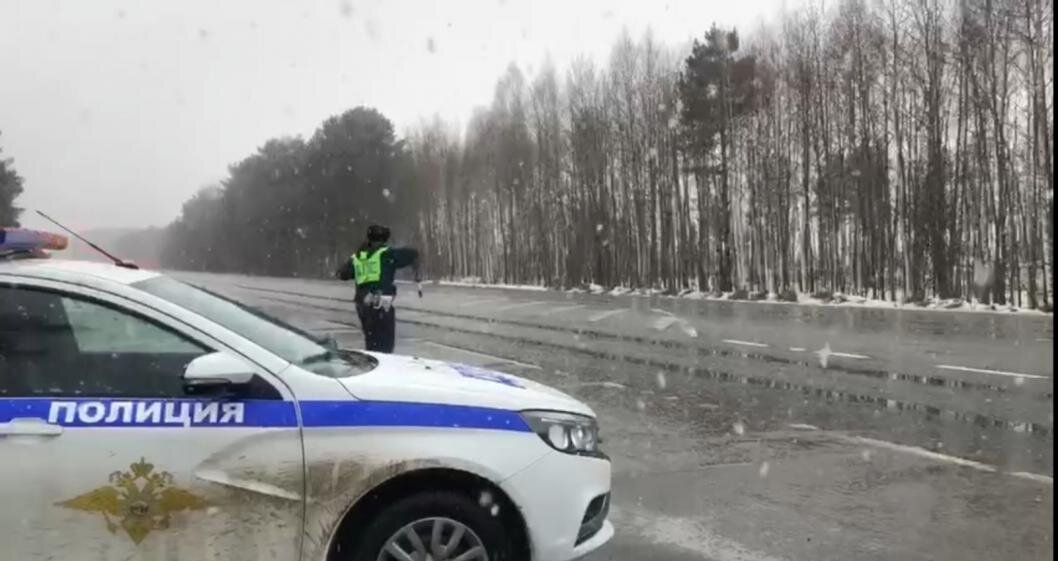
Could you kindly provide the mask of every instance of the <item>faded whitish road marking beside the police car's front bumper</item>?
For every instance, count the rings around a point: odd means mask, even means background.
[[[704,522],[673,517],[643,508],[615,505],[609,510],[618,531],[627,530],[655,544],[692,551],[716,561],[778,561],[764,551],[751,549],[710,529]]]

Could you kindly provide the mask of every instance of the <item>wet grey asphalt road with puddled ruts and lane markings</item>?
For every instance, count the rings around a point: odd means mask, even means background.
[[[348,285],[178,276],[363,346]],[[1052,558],[1051,316],[426,286],[398,338],[595,409],[590,561]]]

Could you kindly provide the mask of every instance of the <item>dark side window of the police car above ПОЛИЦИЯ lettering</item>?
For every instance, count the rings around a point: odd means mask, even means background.
[[[128,310],[0,287],[0,395],[183,397],[184,367],[208,351]]]

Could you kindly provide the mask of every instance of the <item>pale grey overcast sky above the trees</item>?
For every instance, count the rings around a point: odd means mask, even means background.
[[[0,149],[17,201],[76,228],[164,225],[264,140],[376,107],[466,122],[508,64],[600,62],[797,0],[0,0]],[[43,223],[26,213],[25,225]]]

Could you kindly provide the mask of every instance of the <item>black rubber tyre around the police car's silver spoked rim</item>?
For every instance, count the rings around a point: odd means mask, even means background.
[[[346,543],[352,547],[349,557],[336,555],[334,561],[379,561],[401,559],[399,556],[383,550],[397,539],[397,546],[415,556],[414,544],[408,540],[408,530],[420,537],[427,550],[431,549],[432,529],[440,521],[441,543],[448,542],[456,533],[455,525],[463,526],[462,538],[456,547],[443,556],[431,556],[430,559],[442,561],[456,559],[478,544],[487,557],[477,560],[517,561],[511,546],[511,536],[504,527],[504,518],[498,512],[500,508],[491,501],[475,502],[466,494],[452,491],[427,491],[395,502],[379,512],[373,520],[367,522],[359,536],[352,537]],[[461,548],[461,549],[460,549]],[[432,554],[435,551],[431,551]]]

